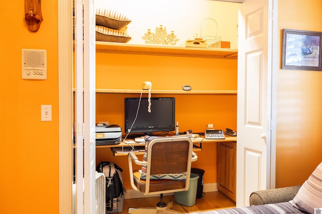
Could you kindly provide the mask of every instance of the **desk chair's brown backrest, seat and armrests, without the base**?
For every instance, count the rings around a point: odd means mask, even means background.
[[[144,195],[188,190],[191,162],[198,159],[192,148],[192,140],[187,136],[157,137],[146,143],[143,161],[129,152],[132,188]],[[132,161],[142,166],[142,174],[133,172]]]

